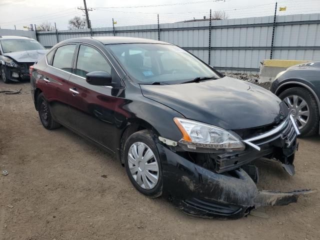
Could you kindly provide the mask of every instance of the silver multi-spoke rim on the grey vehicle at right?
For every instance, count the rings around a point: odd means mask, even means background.
[[[310,115],[309,106],[306,104],[306,101],[297,95],[287,96],[283,100],[299,129],[303,128],[308,122]]]

